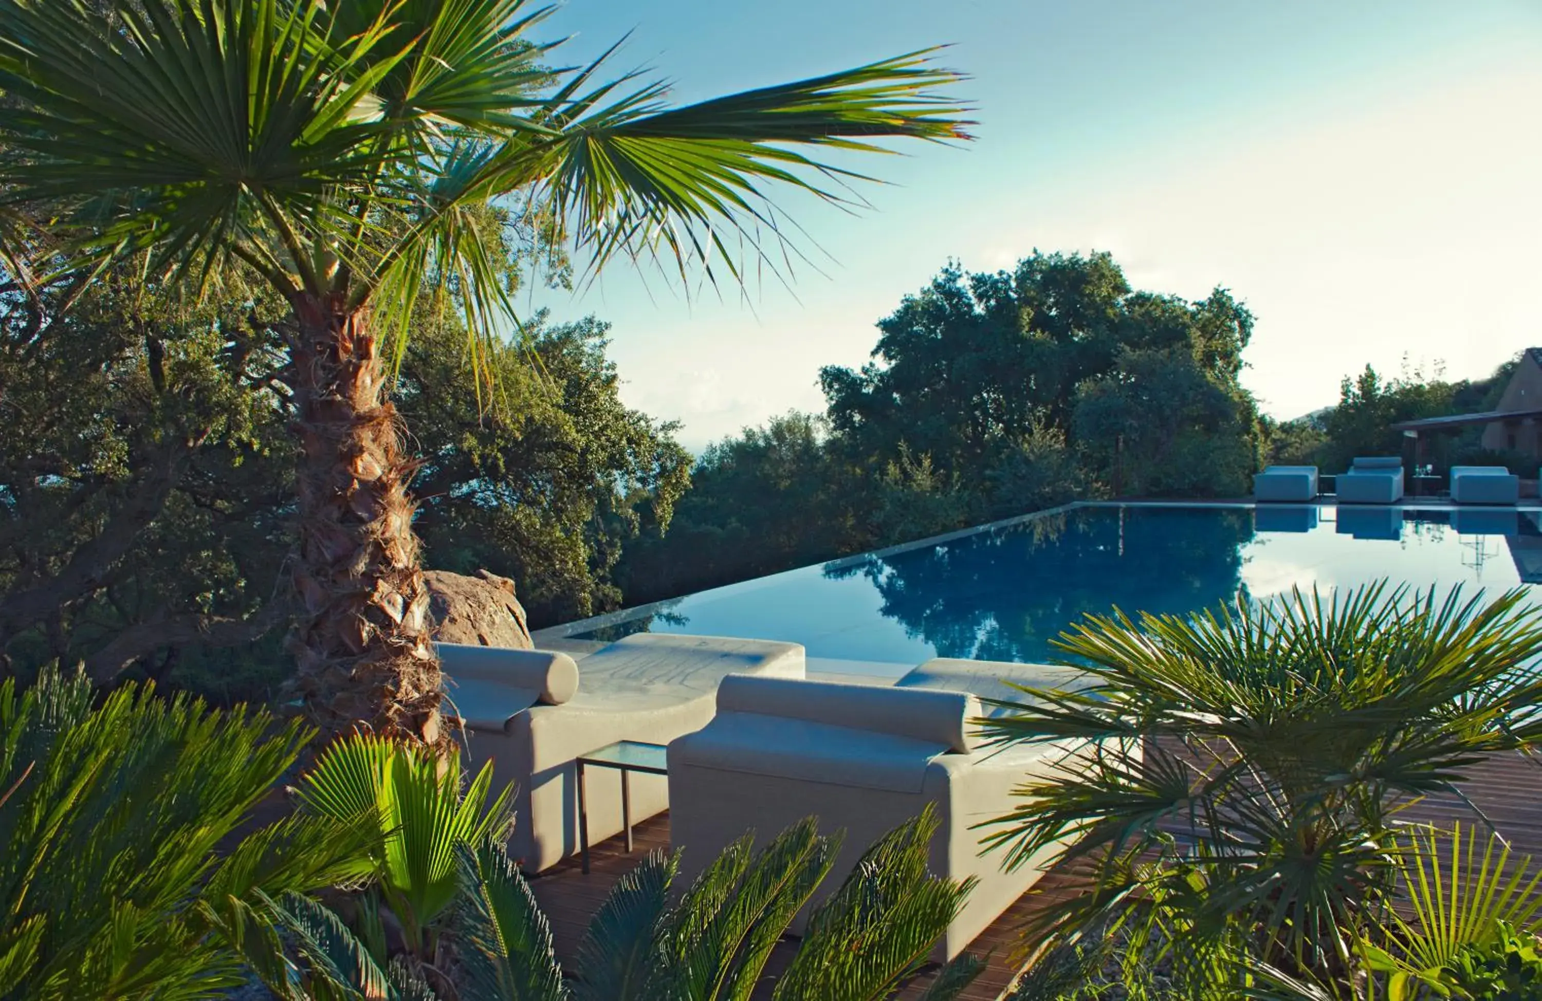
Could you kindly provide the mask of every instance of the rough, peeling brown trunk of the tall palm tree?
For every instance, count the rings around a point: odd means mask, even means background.
[[[298,295],[293,308],[298,693],[324,739],[369,730],[449,750],[407,495],[415,463],[369,313],[341,296]]]

